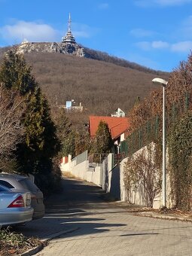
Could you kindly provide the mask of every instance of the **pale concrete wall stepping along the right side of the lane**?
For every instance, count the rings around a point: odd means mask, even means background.
[[[77,178],[101,186],[106,193],[111,194],[116,200],[145,206],[145,190],[142,185],[140,185],[136,191],[132,190],[129,195],[126,193],[126,187],[123,181],[123,170],[128,158],[123,159],[119,166],[113,166],[113,154],[108,154],[108,157],[105,158],[102,164],[89,163],[88,160],[77,164],[76,160],[72,160],[70,155],[68,159],[68,163],[61,163],[62,172],[71,172],[72,175],[75,175]],[[168,194],[167,207],[171,207],[172,202],[169,198],[169,177],[167,178],[166,186]],[[154,198],[153,207],[154,209],[159,209],[161,205],[162,200],[160,193]]]

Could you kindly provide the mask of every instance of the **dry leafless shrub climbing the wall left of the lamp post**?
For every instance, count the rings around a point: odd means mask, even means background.
[[[162,182],[158,146],[151,143],[129,157],[123,176],[128,200],[131,201],[133,192],[143,191],[142,198],[146,206],[153,207],[154,197],[160,193]]]

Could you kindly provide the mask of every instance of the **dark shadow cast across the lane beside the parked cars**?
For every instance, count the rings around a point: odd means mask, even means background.
[[[62,193],[53,194],[46,199],[44,218],[31,221],[26,227],[17,227],[17,232],[22,232],[25,236],[46,239],[54,233],[75,228],[81,230],[83,235],[103,233],[108,231],[109,227],[125,226],[105,223],[102,215],[108,212],[118,214],[120,209],[110,209],[109,204],[102,200],[104,192],[100,187],[75,179],[63,179],[62,187]],[[92,218],[91,215],[96,213],[99,214],[99,218]],[[79,235],[78,230],[70,233],[70,236]]]

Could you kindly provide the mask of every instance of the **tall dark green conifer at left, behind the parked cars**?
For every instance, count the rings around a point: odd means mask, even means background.
[[[51,158],[59,151],[56,127],[50,118],[47,99],[32,75],[32,68],[16,50],[9,51],[0,69],[0,81],[5,88],[15,88],[26,97],[23,115],[25,142],[17,145],[20,172],[43,174],[52,169]]]

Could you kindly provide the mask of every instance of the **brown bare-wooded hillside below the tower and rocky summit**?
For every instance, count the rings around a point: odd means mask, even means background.
[[[0,48],[2,59],[6,48]],[[66,105],[75,99],[88,114],[111,115],[115,108],[127,112],[136,99],[143,99],[153,90],[154,77],[168,78],[157,72],[127,62],[107,53],[84,48],[87,58],[61,53],[27,53],[26,61],[33,68],[36,80],[50,105]],[[82,116],[84,114],[81,114]]]

